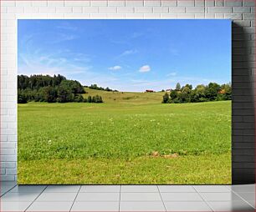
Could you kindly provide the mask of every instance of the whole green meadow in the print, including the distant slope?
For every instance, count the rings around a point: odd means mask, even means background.
[[[18,104],[19,184],[230,184],[231,102]]]

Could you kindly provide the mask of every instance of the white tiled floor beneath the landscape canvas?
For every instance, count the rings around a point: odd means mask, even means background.
[[[254,211],[255,184],[16,185],[1,183],[0,211]]]

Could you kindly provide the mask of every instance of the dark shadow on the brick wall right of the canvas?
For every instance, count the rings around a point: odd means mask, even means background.
[[[233,23],[232,32],[232,182],[253,184],[255,183],[253,74],[255,62],[252,62],[254,55],[250,53],[252,47],[249,42],[253,33],[246,33],[237,23]]]

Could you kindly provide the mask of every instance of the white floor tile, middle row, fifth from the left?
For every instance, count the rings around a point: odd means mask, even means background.
[[[163,201],[203,201],[197,193],[161,193]]]

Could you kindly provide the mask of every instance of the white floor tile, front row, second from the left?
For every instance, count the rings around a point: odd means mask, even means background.
[[[27,211],[69,211],[73,202],[33,202]]]

